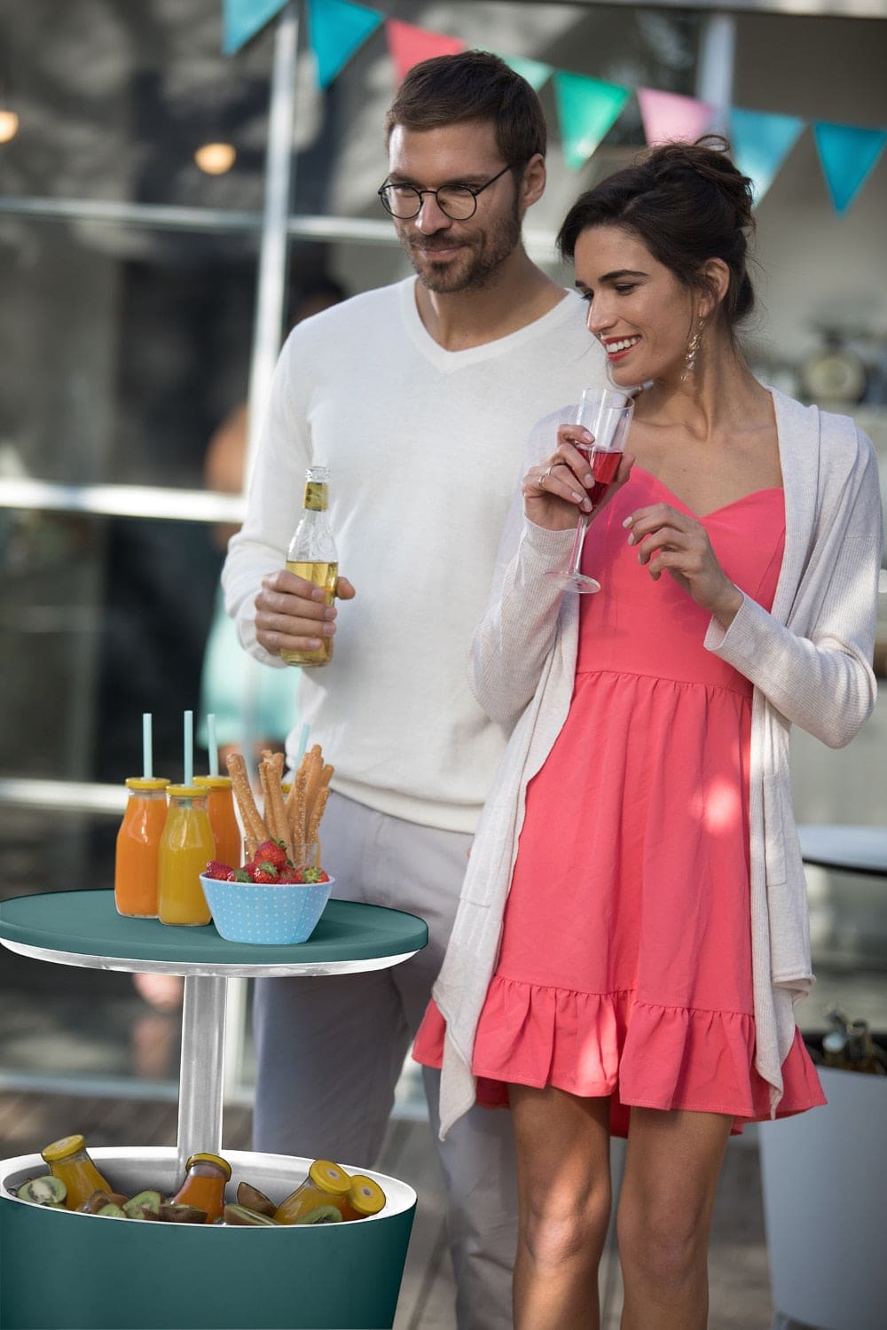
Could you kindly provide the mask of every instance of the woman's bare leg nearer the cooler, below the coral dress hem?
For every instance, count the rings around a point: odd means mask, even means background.
[[[515,1330],[598,1330],[610,1216],[609,1100],[511,1085],[520,1222]]]

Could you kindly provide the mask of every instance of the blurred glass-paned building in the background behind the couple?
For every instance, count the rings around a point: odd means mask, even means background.
[[[709,102],[725,126],[734,106],[797,117],[757,210],[749,356],[763,382],[854,414],[887,468],[887,154],[838,210],[813,129],[875,132],[876,146],[883,0],[372,8],[551,70]],[[398,81],[386,23],[320,88],[307,9],[287,5],[225,56],[222,0],[0,0],[3,895],[110,886],[140,713],[153,713],[154,770],[182,774],[222,557],[213,528],[241,513],[205,488],[207,442],[247,396],[258,427],[290,297],[318,274],[358,293],[408,271],[375,194]],[[560,273],[567,207],[642,149],[645,125],[628,97],[577,165],[556,80],[540,94],[549,186],[528,247]],[[884,657],[882,640],[882,673]],[[799,735],[799,818],[883,823],[886,738],[883,697],[844,753]],[[875,976],[866,991],[883,994],[884,883],[819,874],[811,900],[821,968]],[[0,955],[0,1081],[134,1093],[133,1077],[174,1075],[130,1040],[141,999],[128,976],[51,979],[37,1000],[44,967]],[[247,1093],[249,1056],[231,1065]]]

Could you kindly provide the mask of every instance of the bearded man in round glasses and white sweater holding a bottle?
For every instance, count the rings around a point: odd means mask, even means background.
[[[521,243],[545,186],[545,121],[529,85],[484,52],[424,61],[387,133],[380,196],[416,278],[290,335],[223,573],[258,658],[279,664],[281,649],[335,633],[331,664],[305,670],[299,689],[311,741],[335,766],[324,867],[336,895],[428,922],[428,947],[391,970],[257,984],[255,1148],[364,1168],[507,738],[472,698],[465,656],[525,440],[604,376],[581,302]],[[340,612],[282,567],[311,462],[331,469]],[[436,1137],[439,1073],[424,1076]],[[512,1148],[509,1115],[485,1109],[439,1145],[463,1330],[511,1325]]]

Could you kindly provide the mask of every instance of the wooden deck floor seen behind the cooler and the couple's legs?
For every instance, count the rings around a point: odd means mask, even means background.
[[[229,1149],[250,1148],[250,1121],[247,1108],[226,1108],[222,1138]],[[0,1093],[0,1158],[36,1152],[47,1141],[74,1130],[96,1146],[174,1145],[176,1129],[177,1108],[170,1103]],[[617,1144],[613,1152],[617,1181],[621,1160]],[[394,1120],[378,1166],[410,1182],[419,1194],[395,1330],[455,1330],[443,1184],[427,1123]],[[714,1216],[710,1281],[709,1330],[769,1330],[767,1254],[758,1152],[753,1142],[731,1141],[727,1149]],[[612,1237],[601,1267],[601,1299],[602,1330],[617,1330],[621,1281]]]

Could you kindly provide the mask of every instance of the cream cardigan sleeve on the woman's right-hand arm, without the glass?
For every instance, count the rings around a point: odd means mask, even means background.
[[[787,625],[746,596],[729,629],[711,620],[705,645],[751,680],[786,720],[843,747],[878,693],[871,658],[883,535],[871,444],[860,450],[840,505],[821,525]]]

